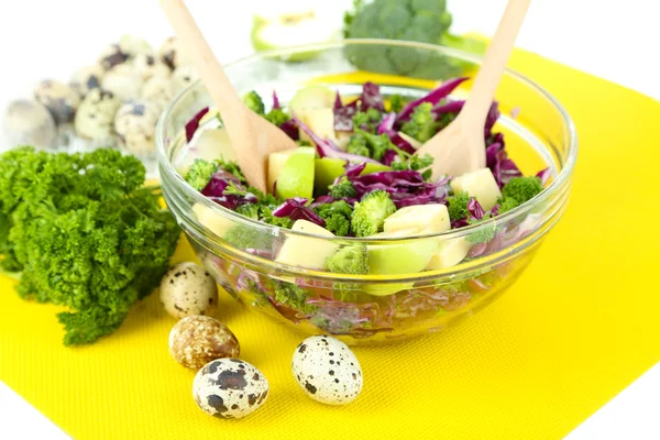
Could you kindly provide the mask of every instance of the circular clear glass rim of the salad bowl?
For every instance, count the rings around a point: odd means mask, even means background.
[[[483,63],[483,59],[484,59],[483,56],[471,54],[471,53],[455,50],[452,47],[442,46],[439,44],[418,43],[418,42],[411,42],[411,41],[386,40],[386,38],[344,38],[344,40],[338,40],[338,41],[326,42],[326,43],[302,44],[302,45],[289,46],[286,48],[277,48],[277,50],[256,52],[251,55],[238,58],[231,63],[226,64],[224,68],[229,70],[233,66],[238,66],[243,63],[254,62],[257,59],[286,58],[286,56],[289,56],[289,55],[296,54],[296,53],[343,48],[348,45],[387,45],[387,46],[397,46],[397,47],[424,48],[424,50],[428,50],[428,51],[440,52],[444,55],[449,55],[454,58],[461,58],[461,59],[469,61],[469,62],[480,64],[480,65]],[[493,227],[494,224],[497,224],[501,222],[506,222],[507,220],[516,218],[522,213],[529,213],[529,211],[531,211],[535,207],[542,204],[547,199],[551,198],[554,194],[561,191],[561,189],[563,188],[566,180],[570,179],[570,177],[573,173],[573,169],[575,167],[576,158],[578,158],[579,147],[578,147],[578,133],[576,133],[575,124],[574,124],[572,118],[570,117],[570,114],[568,113],[568,111],[565,110],[565,108],[559,102],[559,100],[557,98],[554,98],[542,86],[540,86],[532,79],[528,78],[527,76],[518,73],[517,70],[514,70],[514,69],[507,67],[507,68],[505,68],[504,74],[513,77],[517,81],[519,81],[524,85],[527,85],[529,88],[534,89],[536,92],[538,92],[544,99],[547,99],[551,103],[551,106],[559,112],[559,114],[562,119],[562,122],[564,123],[564,125],[566,128],[566,134],[564,136],[565,138],[564,141],[568,144],[569,151],[568,151],[563,167],[560,169],[557,177],[550,183],[550,185],[548,187],[543,188],[543,190],[539,195],[535,196],[532,199],[528,200],[527,202],[512,209],[510,211],[507,211],[503,215],[498,215],[495,218],[491,218],[485,221],[481,221],[479,223],[469,224],[466,227],[450,229],[448,231],[442,231],[442,232],[433,232],[433,233],[429,233],[426,235],[418,234],[418,235],[393,237],[393,238],[327,237],[327,235],[320,235],[320,234],[316,234],[316,233],[294,231],[290,229],[263,223],[258,220],[248,218],[235,211],[224,208],[221,205],[215,204],[213,201],[211,201],[210,199],[208,199],[207,197],[201,195],[201,193],[199,193],[195,188],[193,188],[185,180],[185,178],[177,172],[175,166],[172,164],[172,162],[167,157],[166,142],[164,140],[165,121],[168,119],[172,111],[179,105],[179,102],[185,97],[187,97],[195,88],[197,88],[201,85],[201,79],[197,79],[197,80],[193,81],[191,84],[186,86],[183,90],[180,90],[177,94],[177,96],[172,101],[169,101],[169,103],[166,106],[166,108],[161,113],[161,117],[158,118],[158,121],[156,124],[156,153],[157,153],[158,165],[161,168],[161,173],[163,172],[163,169],[165,169],[165,172],[167,172],[170,176],[173,176],[175,178],[177,185],[182,189],[184,189],[186,191],[187,196],[191,197],[196,204],[202,205],[206,208],[211,209],[212,211],[215,211],[221,216],[228,217],[237,224],[242,223],[242,224],[255,227],[255,228],[262,229],[264,232],[268,232],[274,235],[277,235],[280,230],[284,230],[284,231],[286,231],[287,235],[292,235],[292,237],[306,237],[306,238],[314,238],[314,239],[323,240],[323,241],[338,241],[338,242],[346,243],[346,244],[359,244],[359,243],[388,244],[388,243],[405,243],[407,241],[424,240],[424,239],[451,240],[451,239],[458,239],[461,237],[466,237],[471,232],[474,232],[475,230],[485,229],[488,226]],[[446,81],[446,80],[447,79],[444,79],[442,81]],[[438,80],[438,81],[440,81],[440,80]],[[213,234],[213,237],[219,238],[215,232],[211,231],[211,233]]]

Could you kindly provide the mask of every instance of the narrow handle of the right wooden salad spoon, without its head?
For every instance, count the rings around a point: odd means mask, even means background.
[[[483,125],[531,0],[509,0],[461,114]],[[483,128],[483,127],[482,127]],[[474,128],[476,130],[476,128]]]

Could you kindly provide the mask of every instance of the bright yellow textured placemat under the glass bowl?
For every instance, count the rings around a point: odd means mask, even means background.
[[[65,349],[56,308],[0,280],[0,378],[77,439],[563,437],[660,360],[660,103],[529,53],[512,64],[574,118],[570,208],[492,307],[442,334],[355,349],[365,387],[351,406],[305,397],[289,370],[300,338],[228,296],[219,317],[271,382],[250,418],[196,407],[155,296],[110,338]],[[184,243],[177,260],[189,257]]]

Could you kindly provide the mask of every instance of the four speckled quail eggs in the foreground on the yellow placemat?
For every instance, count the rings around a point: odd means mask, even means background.
[[[201,266],[183,262],[161,282],[161,304],[178,322],[169,332],[169,353],[196,371],[193,398],[205,413],[223,419],[257,410],[271,385],[262,371],[240,358],[234,333],[213,315],[218,287]],[[362,369],[343,342],[314,336],[294,350],[292,373],[305,395],[327,405],[346,405],[362,392]]]

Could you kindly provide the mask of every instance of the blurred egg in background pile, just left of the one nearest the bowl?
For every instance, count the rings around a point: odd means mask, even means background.
[[[114,134],[114,114],[121,99],[111,91],[92,89],[78,107],[76,132],[87,140],[106,142]]]

